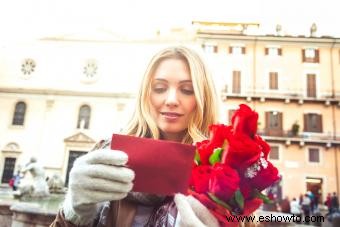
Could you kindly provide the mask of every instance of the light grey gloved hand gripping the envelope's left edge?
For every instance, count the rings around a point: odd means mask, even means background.
[[[134,172],[124,167],[126,153],[99,149],[79,157],[70,171],[63,204],[65,219],[87,225],[96,215],[98,203],[120,200],[132,189]]]

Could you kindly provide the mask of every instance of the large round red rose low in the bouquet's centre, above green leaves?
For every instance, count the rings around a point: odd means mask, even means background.
[[[209,191],[223,201],[228,201],[239,188],[240,178],[230,166],[217,163],[213,166]]]

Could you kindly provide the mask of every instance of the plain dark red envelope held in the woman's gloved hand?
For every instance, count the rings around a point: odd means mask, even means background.
[[[136,174],[132,191],[158,195],[187,192],[195,146],[113,134],[111,149],[128,154],[127,166]]]

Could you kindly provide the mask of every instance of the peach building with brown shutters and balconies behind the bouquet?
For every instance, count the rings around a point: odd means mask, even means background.
[[[258,132],[282,175],[279,197],[312,191],[322,202],[339,193],[340,39],[196,26],[220,80],[224,121],[240,103],[259,113]]]

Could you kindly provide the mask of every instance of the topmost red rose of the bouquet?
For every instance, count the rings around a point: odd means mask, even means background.
[[[259,115],[250,109],[249,106],[241,104],[231,118],[231,124],[234,128],[234,133],[242,133],[254,137],[257,131],[257,119]]]

